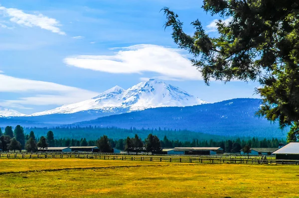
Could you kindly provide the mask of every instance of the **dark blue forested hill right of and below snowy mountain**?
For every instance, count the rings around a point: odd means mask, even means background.
[[[78,124],[120,128],[186,129],[220,136],[285,138],[288,129],[256,116],[260,99],[231,99],[187,107],[160,107],[100,117]]]

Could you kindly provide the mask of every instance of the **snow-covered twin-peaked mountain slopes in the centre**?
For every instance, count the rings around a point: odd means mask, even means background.
[[[114,112],[119,108],[128,108],[129,111],[135,111],[154,107],[192,106],[203,103],[208,102],[189,95],[177,87],[150,79],[148,82],[139,83],[128,90],[116,86],[95,98],[33,113],[29,116],[57,113],[70,114],[87,110]]]

